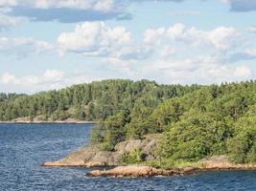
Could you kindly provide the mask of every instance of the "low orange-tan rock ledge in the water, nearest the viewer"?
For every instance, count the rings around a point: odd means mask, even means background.
[[[182,176],[195,174],[196,169],[183,170],[160,170],[150,166],[119,166],[110,170],[94,170],[88,173],[92,177],[152,177],[152,176]]]

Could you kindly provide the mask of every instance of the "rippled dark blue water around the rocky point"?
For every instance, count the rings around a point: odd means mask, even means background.
[[[4,190],[256,190],[256,172],[202,173],[196,176],[88,178],[86,169],[44,168],[88,144],[91,125],[0,124],[0,191]]]

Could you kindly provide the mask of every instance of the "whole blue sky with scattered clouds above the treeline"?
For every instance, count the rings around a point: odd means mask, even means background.
[[[0,0],[0,92],[256,78],[256,0]]]

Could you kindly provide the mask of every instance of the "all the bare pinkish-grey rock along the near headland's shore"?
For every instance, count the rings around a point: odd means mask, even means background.
[[[112,167],[109,170],[93,170],[88,173],[92,177],[151,177],[151,176],[183,176],[197,174],[202,171],[223,170],[256,170],[256,164],[235,164],[226,156],[214,156],[201,159],[193,166],[163,170],[141,165],[128,165],[122,162],[122,158],[133,149],[140,149],[146,156],[146,160],[157,159],[153,150],[157,148],[159,135],[148,135],[144,139],[130,139],[120,142],[114,151],[102,151],[100,145],[89,145],[72,153],[64,159],[48,161],[45,167]]]

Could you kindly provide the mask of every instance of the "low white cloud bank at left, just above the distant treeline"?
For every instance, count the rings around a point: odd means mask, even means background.
[[[109,75],[108,78],[112,78]],[[74,84],[88,83],[107,78],[105,73],[80,72],[66,74],[61,70],[46,70],[42,74],[18,76],[6,72],[0,75],[0,86],[4,92],[35,94],[36,92],[59,90]]]

